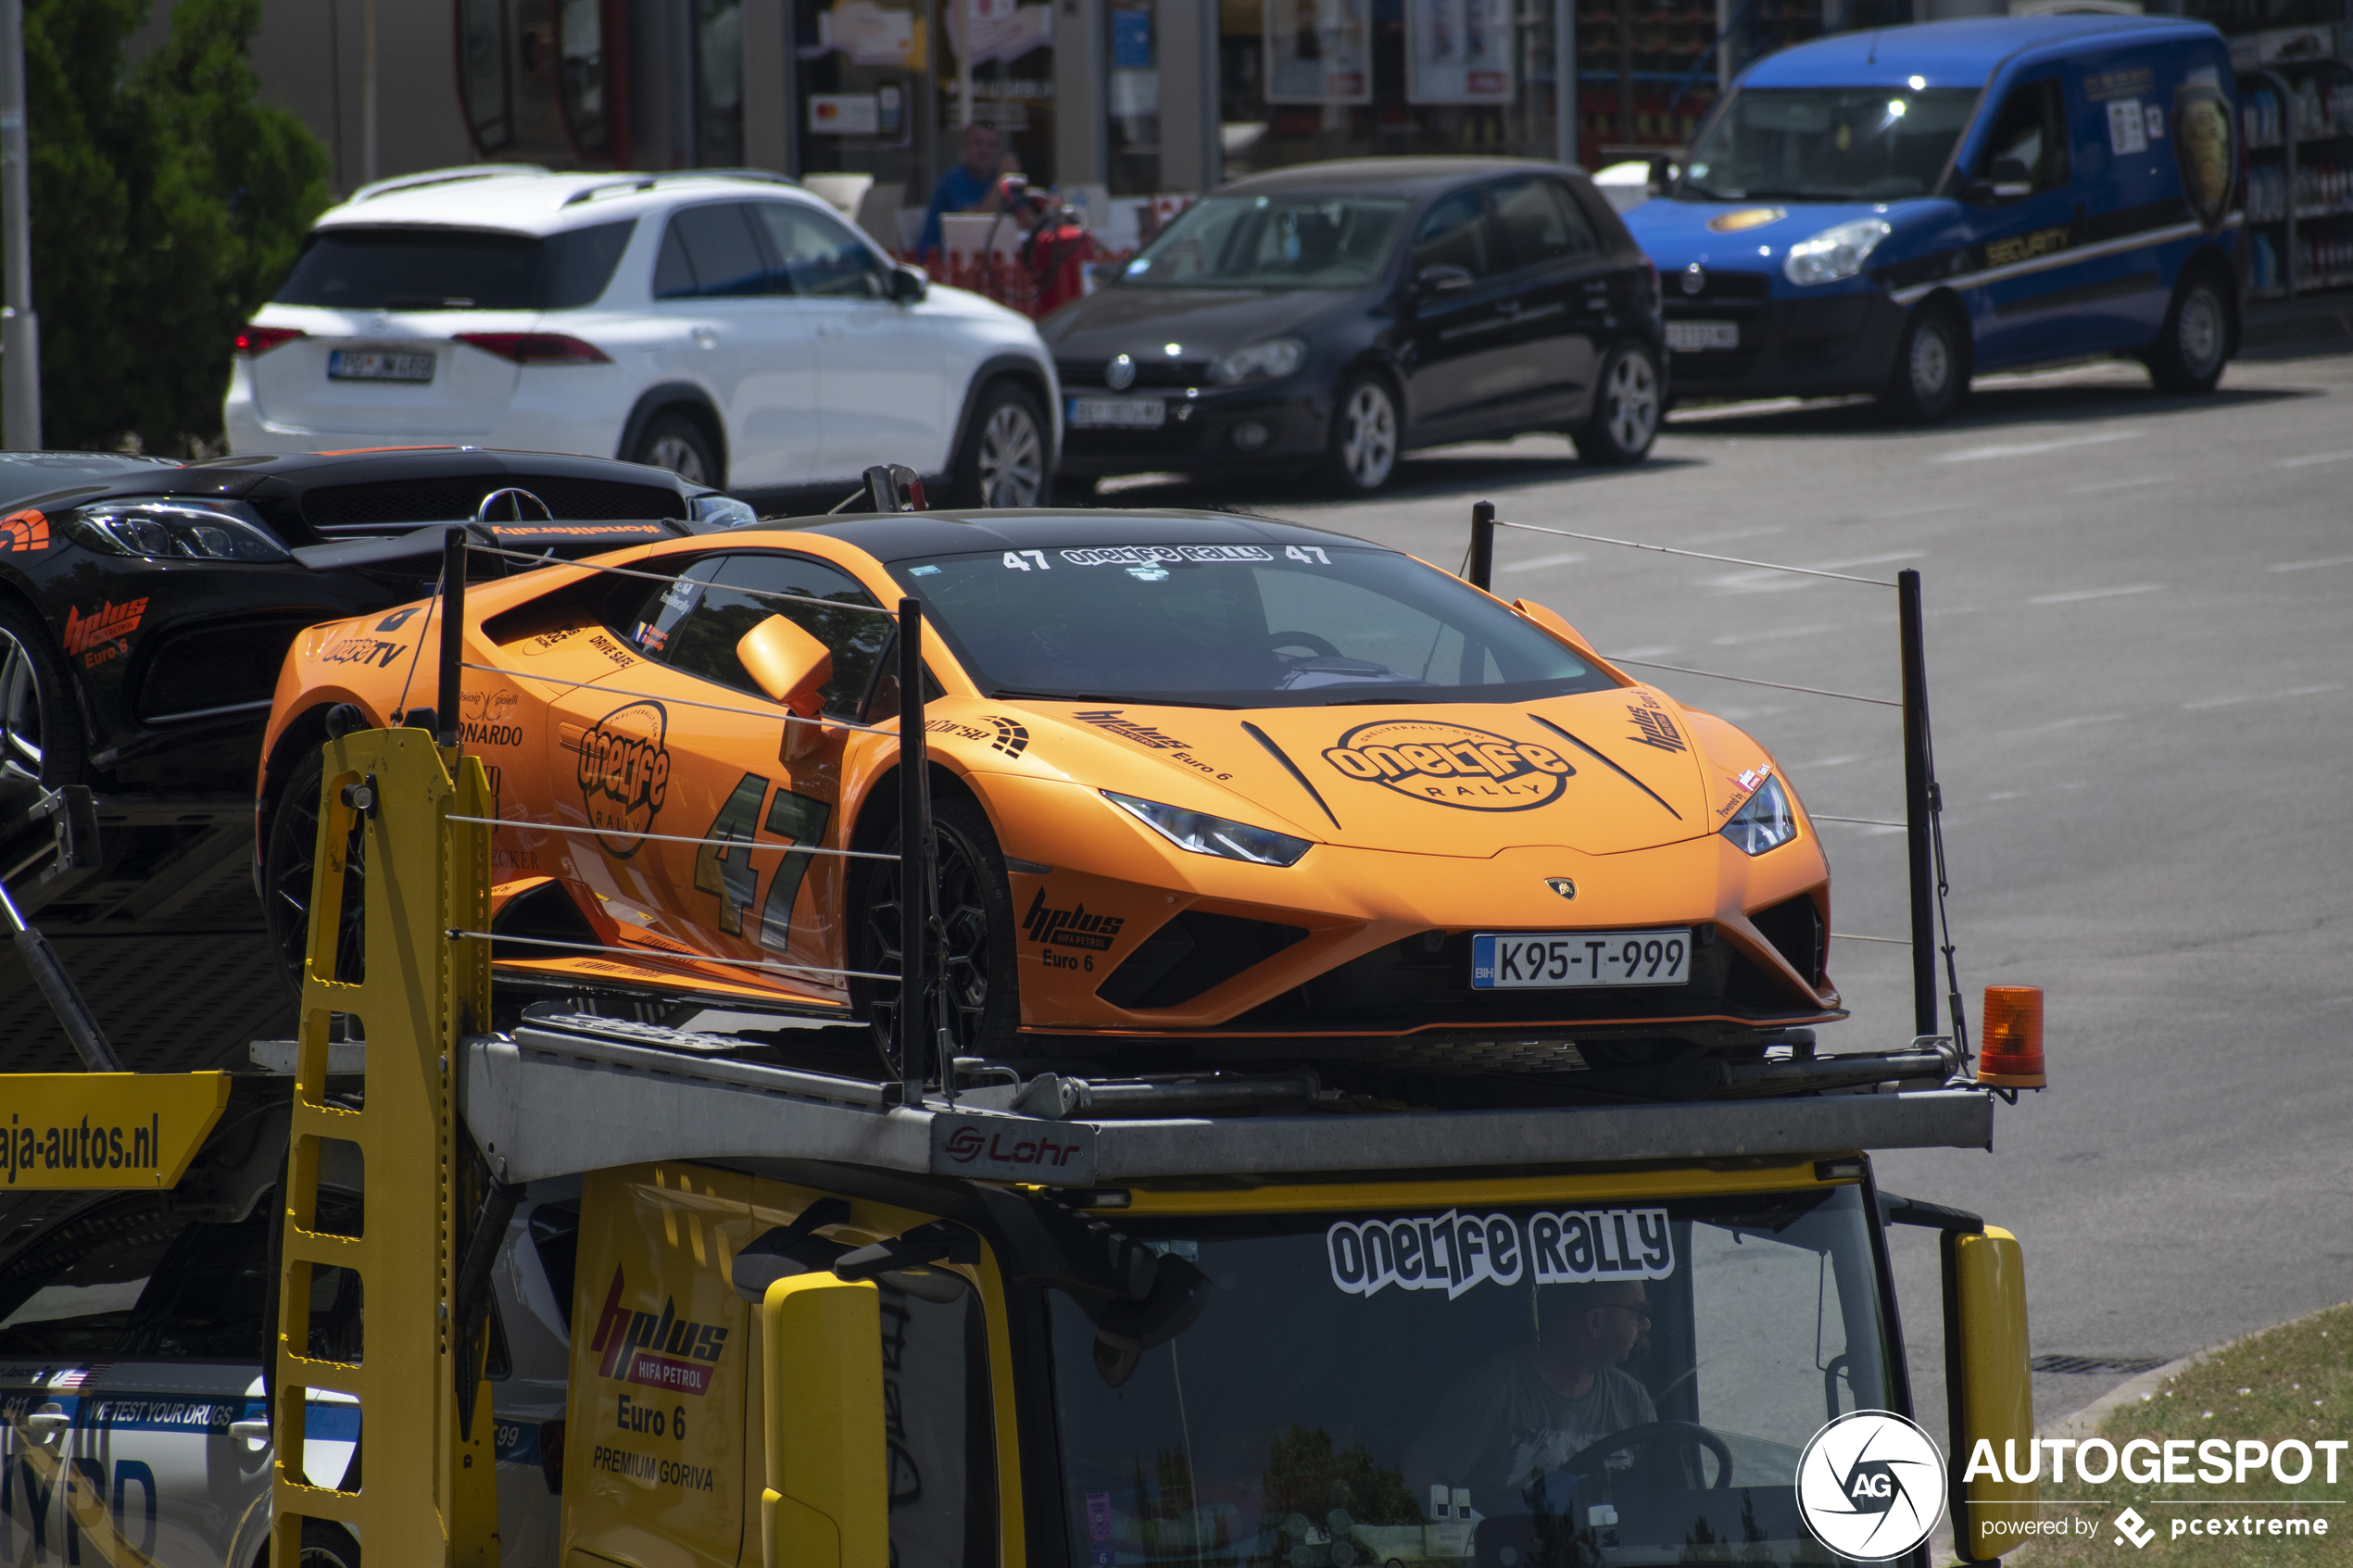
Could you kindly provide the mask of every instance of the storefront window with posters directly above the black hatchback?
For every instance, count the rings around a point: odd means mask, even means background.
[[[1553,7],[1221,0],[1226,176],[1322,158],[1555,158]]]

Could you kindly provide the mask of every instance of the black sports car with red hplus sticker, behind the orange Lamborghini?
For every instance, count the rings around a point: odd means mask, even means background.
[[[428,590],[426,524],[584,555],[751,520],[659,468],[468,447],[7,454],[0,508],[0,837],[38,785],[247,792],[287,644]]]

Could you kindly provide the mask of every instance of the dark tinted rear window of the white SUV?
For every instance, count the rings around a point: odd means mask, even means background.
[[[332,310],[576,310],[612,282],[635,219],[532,237],[487,228],[322,228],[273,303]]]

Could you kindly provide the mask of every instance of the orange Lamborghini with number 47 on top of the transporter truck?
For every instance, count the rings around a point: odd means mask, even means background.
[[[901,597],[958,1053],[1640,1093],[1842,1016],[1828,867],[1762,745],[1539,604],[1195,512],[744,527],[473,583],[501,992],[887,1039]],[[287,656],[259,877],[296,973],[329,712],[431,705],[433,611]]]

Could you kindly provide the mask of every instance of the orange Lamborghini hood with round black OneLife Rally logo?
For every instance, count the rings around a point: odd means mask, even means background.
[[[1193,788],[1160,795],[1172,804],[1209,809],[1200,795],[1209,785],[1235,797],[1235,818],[1327,844],[1617,853],[1718,827],[1689,722],[1645,686],[1537,703],[1024,708],[1056,729],[1106,736],[1141,764],[1096,776],[1104,788],[1151,797],[1153,773],[1176,773]],[[1061,750],[1054,741],[1038,736],[1042,762]]]

